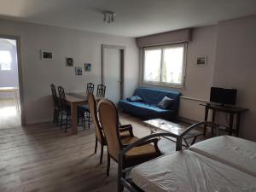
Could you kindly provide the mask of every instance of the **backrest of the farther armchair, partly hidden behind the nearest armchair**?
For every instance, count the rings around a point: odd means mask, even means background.
[[[96,137],[102,143],[104,140],[104,134],[102,130],[102,125],[100,124],[99,117],[98,117],[97,102],[96,102],[95,96],[91,93],[89,93],[88,95],[88,105],[89,105],[90,116],[95,125]]]

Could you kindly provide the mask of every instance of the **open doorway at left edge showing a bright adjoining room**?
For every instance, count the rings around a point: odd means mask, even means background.
[[[18,42],[0,36],[0,129],[21,125]]]

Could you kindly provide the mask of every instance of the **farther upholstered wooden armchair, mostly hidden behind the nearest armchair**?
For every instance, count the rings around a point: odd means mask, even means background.
[[[98,119],[97,102],[96,102],[96,98],[93,94],[88,95],[88,104],[89,104],[90,115],[91,115],[92,121],[95,125],[95,130],[96,130],[96,143],[95,143],[94,153],[96,154],[97,144],[100,143],[101,144],[100,164],[102,164],[103,147],[107,146],[107,141],[106,141],[106,137],[104,136],[104,132],[102,130],[102,125],[100,124],[99,119]],[[120,132],[120,137],[125,139],[125,141],[128,141],[128,139],[126,137],[133,137],[131,125],[121,125],[119,128],[119,132]]]

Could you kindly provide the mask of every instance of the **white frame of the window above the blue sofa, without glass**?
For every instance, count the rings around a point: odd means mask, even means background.
[[[173,48],[173,47],[181,47],[183,46],[183,68],[182,68],[182,82],[181,84],[176,83],[166,83],[162,82],[163,79],[163,66],[164,66],[164,51],[163,49]],[[145,70],[145,50],[152,50],[152,49],[161,49],[161,59],[160,59],[160,82],[153,82],[153,81],[145,81],[144,80],[144,70]],[[188,43],[177,43],[177,44],[165,44],[165,45],[155,45],[155,46],[148,46],[143,47],[142,49],[142,84],[143,85],[154,85],[154,86],[163,86],[163,87],[173,87],[173,88],[183,88],[185,85],[185,78],[186,78],[186,63],[187,63],[187,49]]]

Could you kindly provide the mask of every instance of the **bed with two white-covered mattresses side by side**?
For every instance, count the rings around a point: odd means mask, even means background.
[[[237,137],[213,137],[135,166],[119,182],[133,192],[255,192],[255,147]]]

